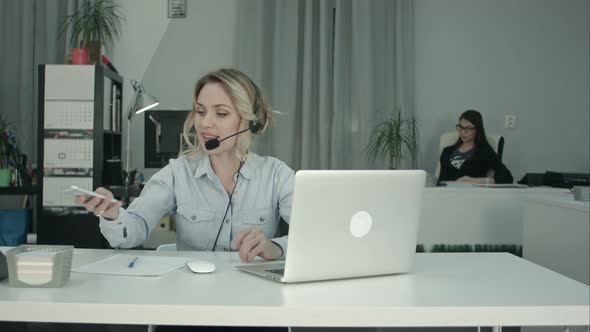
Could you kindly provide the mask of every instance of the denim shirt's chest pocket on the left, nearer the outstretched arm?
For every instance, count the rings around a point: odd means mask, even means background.
[[[214,228],[215,211],[184,204],[176,208],[176,234],[185,245],[197,250],[209,250],[211,237],[215,236]]]

